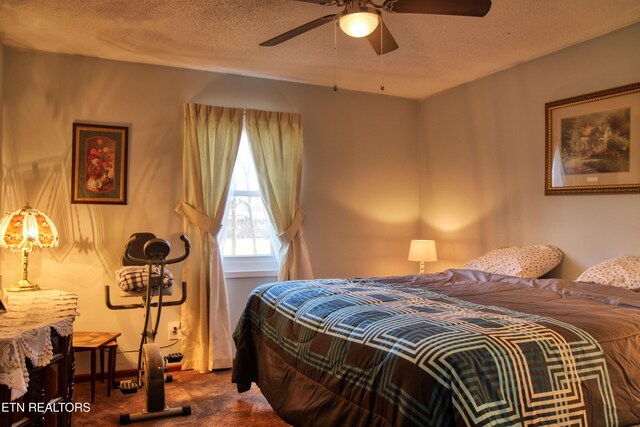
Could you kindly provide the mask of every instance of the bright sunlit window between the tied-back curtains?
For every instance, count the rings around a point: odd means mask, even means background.
[[[277,238],[258,186],[246,133],[242,132],[220,233],[220,250],[228,277],[275,275]]]

